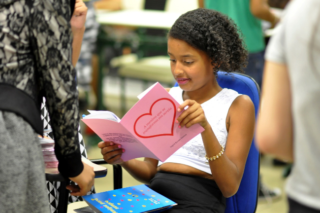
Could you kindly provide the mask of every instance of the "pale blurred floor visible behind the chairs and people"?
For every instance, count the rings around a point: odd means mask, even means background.
[[[151,85],[152,83],[150,83]],[[119,79],[117,77],[108,77],[104,79],[104,105],[107,109],[120,115],[120,101],[119,101]],[[127,105],[133,106],[137,101],[136,96],[143,91],[143,87],[140,81],[130,80],[127,82]],[[83,129],[83,128],[82,128]],[[89,144],[88,138],[84,138],[87,146],[87,152],[89,159],[102,158],[99,148],[92,143]],[[108,174],[105,178],[96,178],[95,187],[97,192],[107,191],[113,189],[113,169],[111,165],[104,165],[108,168]],[[269,156],[263,156],[260,160],[260,174],[262,180],[269,187],[278,187],[282,191],[282,195],[277,200],[259,201],[256,209],[256,213],[287,213],[288,206],[286,196],[284,194],[283,178],[284,166],[273,166],[272,158]],[[130,175],[123,170],[123,187],[133,186],[141,184],[137,180],[130,177]]]

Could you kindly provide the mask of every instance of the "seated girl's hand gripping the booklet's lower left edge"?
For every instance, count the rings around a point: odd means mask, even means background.
[[[124,161],[121,159],[122,153],[125,149],[121,148],[120,144],[114,142],[99,142],[98,147],[101,149],[103,159],[108,164],[121,164]]]

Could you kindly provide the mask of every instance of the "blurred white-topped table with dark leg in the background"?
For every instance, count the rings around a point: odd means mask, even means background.
[[[170,29],[175,20],[181,15],[179,12],[163,10],[119,10],[119,11],[96,11],[96,21],[103,27],[123,26],[133,28]],[[97,109],[105,110],[103,106],[103,49],[112,45],[112,41],[101,31],[97,37],[97,53],[99,58],[97,77]]]

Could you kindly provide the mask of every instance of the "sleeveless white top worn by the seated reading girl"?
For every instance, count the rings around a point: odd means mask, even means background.
[[[182,104],[183,90],[180,87],[172,87],[169,94],[179,103]],[[210,100],[201,104],[204,110],[206,118],[211,125],[213,132],[215,133],[219,143],[225,147],[226,138],[228,132],[225,127],[225,119],[228,114],[229,108],[232,102],[241,94],[231,89],[224,88],[217,95]],[[171,155],[163,163],[180,163],[198,170],[211,174],[208,161],[204,155],[206,151],[203,146],[201,134],[194,137],[191,141],[187,142],[180,149],[178,149],[173,155]],[[218,153],[217,153],[218,154]],[[163,164],[159,161],[158,166]]]

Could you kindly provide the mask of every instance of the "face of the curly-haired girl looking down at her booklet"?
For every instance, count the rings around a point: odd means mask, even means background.
[[[183,40],[169,38],[168,55],[171,72],[181,89],[191,92],[212,88],[215,74],[211,59],[205,52]]]

